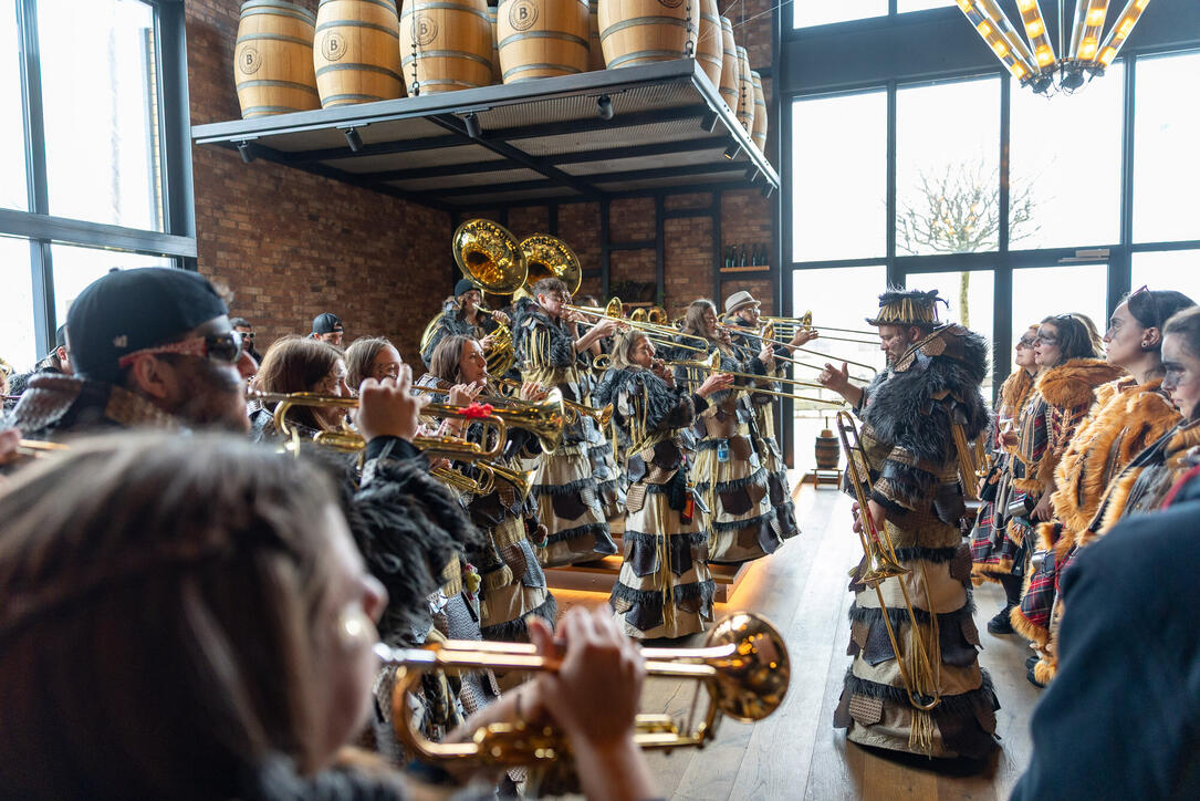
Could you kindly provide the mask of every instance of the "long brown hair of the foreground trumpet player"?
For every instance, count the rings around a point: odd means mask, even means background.
[[[329,480],[240,438],[82,440],[0,495],[12,797],[242,797],[319,766]]]

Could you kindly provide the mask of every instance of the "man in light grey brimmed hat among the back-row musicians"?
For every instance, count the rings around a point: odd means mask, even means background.
[[[731,339],[736,347],[743,348],[743,353],[758,353],[767,342],[758,333],[762,330],[758,315],[760,304],[749,292],[734,292],[725,300],[726,323],[736,327],[731,331]],[[793,354],[794,348],[800,347],[816,337],[812,329],[798,328],[792,340],[787,345],[775,345],[767,353],[767,358],[761,360],[763,375],[767,378],[784,377],[787,373],[785,358]],[[766,389],[779,389],[778,383],[772,383]],[[792,489],[787,480],[787,464],[784,461],[784,452],[775,438],[775,397],[754,393],[750,395],[750,405],[755,412],[755,424],[758,429],[758,438],[755,444],[758,456],[767,468],[767,483],[770,486],[770,506],[775,509],[775,519],[779,521],[780,534],[784,539],[800,533],[796,524],[796,507],[792,502]]]

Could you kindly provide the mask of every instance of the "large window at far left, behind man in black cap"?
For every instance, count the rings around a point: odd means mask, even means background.
[[[182,42],[178,1],[0,0],[0,358],[17,370],[96,277],[194,259]]]

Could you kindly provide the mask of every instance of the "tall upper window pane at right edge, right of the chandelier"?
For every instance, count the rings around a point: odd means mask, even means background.
[[[1200,239],[1200,215],[1186,201],[1200,185],[1200,53],[1138,59],[1134,108],[1133,238]],[[1184,100],[1188,98],[1188,100]],[[1181,191],[1187,195],[1181,197]]]

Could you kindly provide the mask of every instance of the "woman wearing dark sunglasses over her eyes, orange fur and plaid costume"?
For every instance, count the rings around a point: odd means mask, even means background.
[[[1050,636],[1057,569],[1054,543],[1038,539],[1037,525],[1048,522],[1054,514],[1050,500],[1057,490],[1058,462],[1096,401],[1096,390],[1124,376],[1126,371],[1097,358],[1099,351],[1090,327],[1076,315],[1043,319],[1033,354],[1042,375],[1018,422],[1013,460],[1013,485],[1028,494],[1030,513],[1014,518],[1006,533],[1021,543],[1028,538],[1036,567],[1026,575],[1021,603],[1012,610],[1009,620],[1013,629],[1031,640],[1042,656],[1048,656],[1044,648]],[[1039,683],[1032,665],[1027,677]]]

